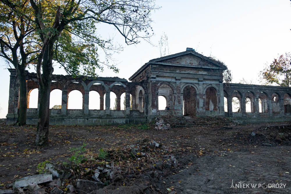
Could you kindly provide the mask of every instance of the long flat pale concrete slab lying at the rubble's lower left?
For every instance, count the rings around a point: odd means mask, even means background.
[[[40,184],[52,181],[52,174],[41,174],[41,175],[32,175],[29,177],[23,177],[13,181],[12,187],[25,187],[29,184]]]

